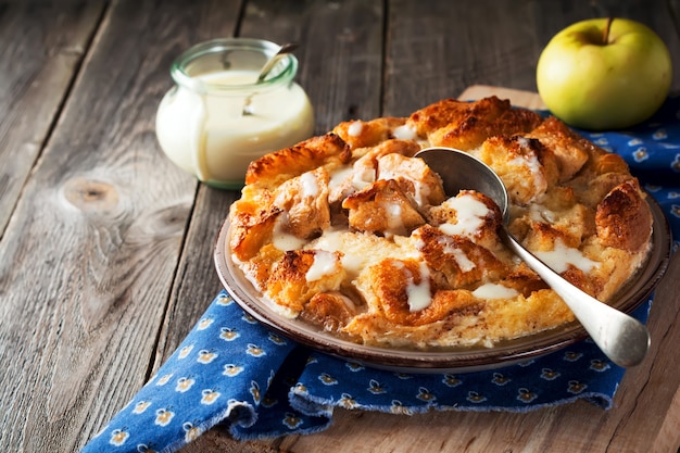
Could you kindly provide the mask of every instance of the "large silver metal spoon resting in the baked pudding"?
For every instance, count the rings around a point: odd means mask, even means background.
[[[416,158],[423,159],[441,176],[448,196],[469,189],[495,201],[503,213],[502,235],[509,249],[562,297],[595,344],[612,362],[627,367],[643,361],[650,348],[650,332],[642,323],[565,280],[525,249],[508,231],[507,190],[493,169],[478,159],[451,148],[428,148],[419,151]]]

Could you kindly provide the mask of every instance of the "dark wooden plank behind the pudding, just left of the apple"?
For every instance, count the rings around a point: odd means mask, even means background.
[[[536,90],[534,3],[390,1],[386,114],[410,114],[475,84]]]

